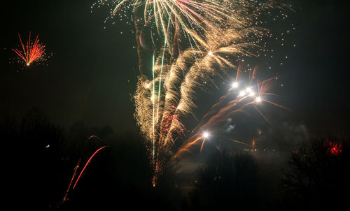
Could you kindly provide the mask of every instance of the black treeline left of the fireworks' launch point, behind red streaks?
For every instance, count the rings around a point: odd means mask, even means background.
[[[21,210],[111,210],[140,205],[152,210],[180,210],[184,201],[175,187],[174,166],[164,168],[153,187],[147,147],[134,133],[117,134],[74,124],[65,131],[38,109],[22,119],[0,122],[2,175],[6,203]],[[98,138],[90,138],[90,136]],[[62,203],[73,170],[78,174],[99,147],[108,145],[90,162],[75,189]]]

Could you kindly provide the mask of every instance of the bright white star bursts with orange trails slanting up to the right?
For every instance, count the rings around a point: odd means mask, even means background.
[[[206,140],[213,136],[208,131],[216,130],[220,131],[221,128],[225,127],[228,120],[232,117],[235,117],[237,113],[246,113],[246,107],[251,106],[258,112],[258,114],[265,119],[268,124],[271,124],[269,119],[265,117],[263,112],[258,108],[262,106],[263,102],[270,103],[274,106],[278,106],[285,110],[288,108],[281,106],[272,101],[268,101],[266,96],[276,96],[276,94],[270,93],[269,89],[274,85],[275,78],[269,78],[267,80],[263,80],[261,82],[255,78],[255,70],[248,78],[248,83],[244,83],[243,77],[239,74],[239,70],[237,71],[237,77],[235,82],[232,82],[232,87],[226,92],[221,98],[218,100],[214,106],[211,107],[209,112],[202,118],[202,121],[197,124],[196,128],[193,129],[192,136],[189,136],[185,143],[179,147],[179,150],[176,152],[175,157],[180,157],[185,152],[192,152],[191,149],[193,147],[200,146],[200,152],[202,152]],[[226,129],[226,132],[234,129],[235,126],[229,125]],[[203,132],[204,131],[204,132]],[[259,132],[258,132],[259,133]],[[260,131],[261,133],[261,131]],[[249,147],[255,147],[255,139],[252,140],[252,143],[246,143],[244,141],[234,140],[230,138],[230,133],[222,133],[225,134],[216,136],[215,139],[218,140],[229,140],[234,143],[238,143],[240,145],[247,145]],[[223,137],[222,137],[223,136]],[[221,151],[220,147],[214,143],[214,147],[217,150]]]

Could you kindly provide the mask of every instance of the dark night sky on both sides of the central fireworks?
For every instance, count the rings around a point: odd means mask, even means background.
[[[131,101],[137,82],[137,51],[132,27],[104,24],[106,8],[90,12],[94,1],[8,1],[1,13],[0,115],[21,117],[40,108],[53,122],[71,126],[110,125],[137,130]],[[280,67],[281,122],[305,125],[314,136],[349,136],[348,1],[290,1],[296,30]],[[104,29],[106,27],[106,29]],[[52,57],[48,66],[24,68],[15,58],[18,33],[39,34]],[[120,32],[123,31],[123,34]],[[278,62],[278,61],[276,61]],[[280,122],[280,123],[281,123]]]

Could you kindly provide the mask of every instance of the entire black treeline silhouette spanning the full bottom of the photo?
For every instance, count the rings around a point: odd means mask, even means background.
[[[214,152],[184,191],[179,163],[169,163],[153,187],[149,152],[131,132],[83,123],[64,129],[33,109],[3,118],[0,134],[10,210],[318,210],[341,208],[348,196],[349,142],[336,138],[296,146],[283,166],[274,161],[281,157]],[[67,194],[79,160],[78,173],[102,146]]]

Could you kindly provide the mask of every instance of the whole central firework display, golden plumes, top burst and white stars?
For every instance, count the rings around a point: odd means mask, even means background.
[[[211,136],[209,127],[245,106],[253,106],[267,122],[257,104],[265,101],[279,106],[263,97],[269,94],[267,87],[271,80],[255,82],[256,90],[253,89],[254,70],[249,85],[237,94],[235,100],[219,111],[214,108],[222,103],[216,103],[194,129],[195,134],[186,136],[183,119],[195,116],[198,90],[205,92],[216,86],[217,78],[227,81],[235,73],[232,89],[240,88],[237,63],[244,57],[259,57],[262,52],[266,54],[264,39],[272,34],[263,27],[265,21],[262,17],[269,15],[270,10],[287,8],[283,3],[101,0],[96,5],[111,7],[108,18],[117,16],[120,20],[126,18],[134,22],[141,72],[134,94],[134,117],[151,151],[155,175],[164,164],[164,156],[179,156],[199,141],[202,150],[205,140]],[[286,17],[283,13],[281,16],[283,19]],[[152,68],[148,71],[145,71],[144,52],[152,55]],[[148,74],[150,71],[151,74]],[[221,100],[229,97],[230,90]]]

